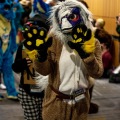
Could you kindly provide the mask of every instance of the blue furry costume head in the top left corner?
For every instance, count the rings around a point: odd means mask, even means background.
[[[0,14],[7,20],[12,20],[15,18],[12,0],[0,0]]]

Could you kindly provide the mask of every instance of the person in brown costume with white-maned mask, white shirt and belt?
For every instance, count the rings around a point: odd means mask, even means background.
[[[35,70],[49,75],[43,120],[87,120],[89,77],[98,78],[103,73],[101,46],[92,33],[91,13],[82,3],[68,0],[52,8],[49,21],[50,38],[40,35],[34,60]]]

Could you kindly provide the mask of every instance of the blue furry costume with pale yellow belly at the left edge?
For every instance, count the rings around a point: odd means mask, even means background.
[[[14,75],[12,71],[13,54],[17,49],[15,13],[12,0],[0,1],[0,74],[3,74],[8,98],[17,98]]]

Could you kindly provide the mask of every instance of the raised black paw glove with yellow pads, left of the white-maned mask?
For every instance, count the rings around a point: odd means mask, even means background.
[[[47,58],[47,50],[52,45],[52,39],[48,38],[46,28],[30,24],[24,27],[24,46],[30,51],[37,50],[39,60],[43,61]]]

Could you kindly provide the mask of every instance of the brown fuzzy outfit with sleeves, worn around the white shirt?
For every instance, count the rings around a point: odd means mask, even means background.
[[[35,69],[43,74],[49,75],[49,84],[57,90],[60,85],[59,60],[62,44],[59,40],[53,40],[53,45],[49,51],[48,60],[40,63],[34,61]],[[100,43],[96,41],[95,53],[83,60],[91,77],[99,77],[103,72]],[[91,70],[92,68],[92,70]],[[86,98],[71,106],[56,97],[56,93],[47,87],[43,101],[43,120],[87,120],[90,98],[88,91]]]

